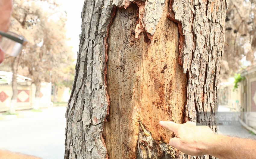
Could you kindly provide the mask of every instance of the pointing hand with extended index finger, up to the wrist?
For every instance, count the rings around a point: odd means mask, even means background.
[[[209,154],[210,145],[217,136],[208,126],[196,126],[194,122],[176,124],[160,121],[159,124],[176,134],[170,139],[170,146],[192,156]]]

